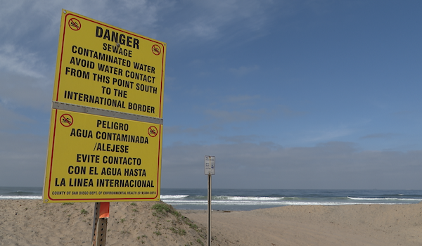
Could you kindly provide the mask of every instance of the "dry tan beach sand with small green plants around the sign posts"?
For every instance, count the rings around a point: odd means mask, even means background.
[[[112,202],[106,245],[206,245],[207,212]],[[0,245],[90,245],[94,203],[0,200]],[[188,219],[184,218],[186,216]],[[212,245],[422,245],[422,204],[212,212]]]

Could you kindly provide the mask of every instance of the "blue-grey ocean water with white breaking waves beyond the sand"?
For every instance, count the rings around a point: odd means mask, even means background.
[[[40,199],[42,188],[0,187],[0,199]],[[176,209],[207,209],[207,189],[162,188],[160,199]],[[253,210],[288,205],[414,204],[422,190],[212,189],[213,210]]]

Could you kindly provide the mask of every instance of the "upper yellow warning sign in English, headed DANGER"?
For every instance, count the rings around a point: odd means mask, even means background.
[[[162,118],[166,44],[63,11],[53,101]]]

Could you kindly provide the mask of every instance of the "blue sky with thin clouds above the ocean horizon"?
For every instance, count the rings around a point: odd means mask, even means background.
[[[422,1],[0,1],[0,186],[44,183],[62,8],[167,43],[162,188],[422,189]]]

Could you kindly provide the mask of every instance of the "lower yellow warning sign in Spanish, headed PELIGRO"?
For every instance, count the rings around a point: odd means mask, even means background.
[[[162,125],[51,114],[44,202],[160,199]]]

